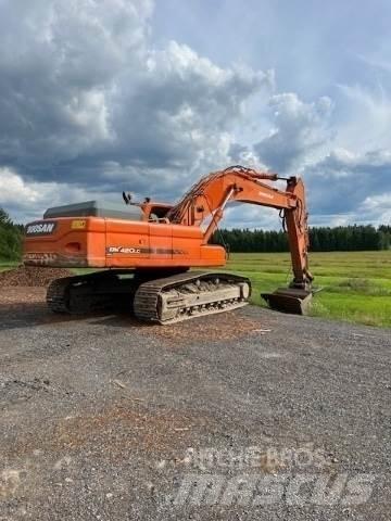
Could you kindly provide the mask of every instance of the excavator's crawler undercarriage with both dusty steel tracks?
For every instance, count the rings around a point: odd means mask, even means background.
[[[105,270],[54,280],[47,303],[54,313],[130,312],[174,323],[242,307],[250,295],[250,280],[230,274]]]

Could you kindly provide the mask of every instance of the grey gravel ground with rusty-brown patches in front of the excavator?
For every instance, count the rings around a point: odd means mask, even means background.
[[[390,519],[390,330],[62,318],[43,292],[0,289],[0,520]]]

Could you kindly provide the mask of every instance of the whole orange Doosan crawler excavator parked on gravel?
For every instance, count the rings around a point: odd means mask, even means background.
[[[285,190],[273,185],[279,180],[286,181]],[[47,304],[52,312],[124,307],[140,320],[166,325],[244,306],[251,295],[248,278],[197,269],[225,266],[226,249],[211,239],[227,204],[235,202],[280,211],[293,280],[262,296],[273,309],[306,313],[313,276],[302,179],[237,165],[201,178],[177,204],[149,198],[134,203],[125,192],[123,198],[125,205],[89,201],[49,208],[43,219],[26,226],[25,265],[96,268],[51,282]]]

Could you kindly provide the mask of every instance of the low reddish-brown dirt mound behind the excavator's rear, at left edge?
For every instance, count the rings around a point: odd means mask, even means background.
[[[0,272],[0,288],[7,285],[24,285],[24,287],[46,287],[53,279],[70,277],[74,275],[64,268],[37,268],[35,266],[20,266]]]

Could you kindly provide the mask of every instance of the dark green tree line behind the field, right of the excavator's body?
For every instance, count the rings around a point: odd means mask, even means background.
[[[355,252],[391,249],[391,226],[338,226],[310,228],[312,252]],[[231,252],[287,252],[288,237],[282,230],[222,229],[213,236],[214,244]]]

